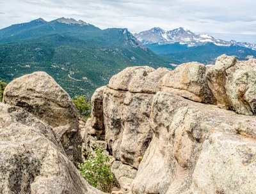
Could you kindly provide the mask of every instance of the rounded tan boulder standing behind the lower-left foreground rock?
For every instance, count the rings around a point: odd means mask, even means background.
[[[70,96],[45,72],[16,78],[4,90],[4,103],[22,107],[49,124],[61,140],[68,158],[81,161],[81,135],[77,110]]]

